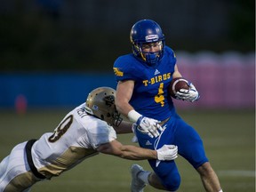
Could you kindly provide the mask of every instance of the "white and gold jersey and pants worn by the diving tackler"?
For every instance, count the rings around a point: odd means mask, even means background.
[[[85,112],[85,103],[63,118],[54,132],[47,132],[36,140],[31,156],[36,170],[51,179],[59,176],[85,158],[95,156],[100,144],[116,140],[113,127]],[[0,191],[27,192],[39,180],[28,165],[26,145],[22,142],[12,148],[0,164]],[[30,154],[30,151],[29,151]]]

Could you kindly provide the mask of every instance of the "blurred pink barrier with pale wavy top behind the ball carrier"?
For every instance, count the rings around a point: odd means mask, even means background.
[[[182,75],[196,84],[201,99],[176,101],[180,108],[255,108],[255,54],[177,53]]]

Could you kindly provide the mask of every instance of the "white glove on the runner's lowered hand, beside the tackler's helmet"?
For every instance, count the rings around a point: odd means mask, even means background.
[[[142,132],[142,133],[147,133],[149,137],[158,137],[160,132],[162,132],[164,129],[163,127],[159,124],[160,121],[157,121],[156,119],[153,118],[148,118],[146,116],[140,116],[136,124],[139,126],[137,129]]]

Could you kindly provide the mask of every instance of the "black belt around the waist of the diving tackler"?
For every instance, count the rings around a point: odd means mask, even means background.
[[[31,169],[31,172],[33,172],[33,174],[37,178],[44,180],[46,177],[43,174],[41,174],[40,172],[37,171],[36,166],[35,166],[35,164],[33,163],[33,160],[32,160],[31,148],[32,148],[32,146],[35,142],[36,142],[36,140],[28,140],[28,142],[26,144],[26,147],[25,147],[26,154],[27,154],[27,159],[28,159],[28,165]]]

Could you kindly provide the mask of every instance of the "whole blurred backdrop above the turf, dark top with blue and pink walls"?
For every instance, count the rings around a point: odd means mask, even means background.
[[[129,33],[156,20],[201,100],[180,108],[254,108],[255,1],[0,0],[0,109],[73,107],[116,87]],[[18,104],[17,104],[18,102]],[[22,107],[22,108],[23,108]]]

